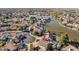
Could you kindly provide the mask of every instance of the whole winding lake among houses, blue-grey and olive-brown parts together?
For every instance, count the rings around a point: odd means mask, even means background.
[[[37,16],[37,15],[31,15],[30,17],[36,17],[37,19],[39,18],[45,18],[45,19],[48,19],[49,17],[51,18],[51,21],[50,23],[48,24],[48,26],[46,26],[46,28],[50,31],[55,31],[55,32],[64,32],[64,33],[68,33],[69,35],[69,38],[71,40],[75,40],[75,41],[79,41],[79,32],[77,31],[74,31],[74,30],[70,30],[68,28],[65,28],[65,27],[61,27],[59,25],[59,21],[52,18],[51,16]]]

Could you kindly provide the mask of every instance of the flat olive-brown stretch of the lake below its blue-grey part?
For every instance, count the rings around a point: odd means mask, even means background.
[[[64,32],[64,33],[68,33],[70,40],[79,41],[79,33],[77,31],[70,30],[70,29],[68,29],[66,27],[63,27],[63,26],[53,26],[51,24],[48,24],[46,26],[46,29],[51,31],[51,32]]]

